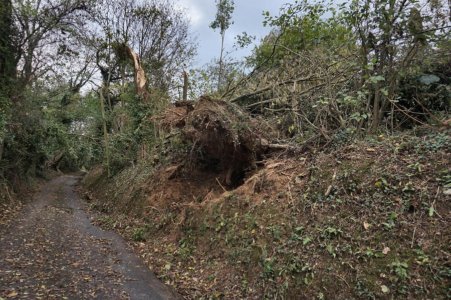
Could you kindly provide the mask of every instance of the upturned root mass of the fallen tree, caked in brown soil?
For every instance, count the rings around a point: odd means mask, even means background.
[[[201,96],[197,101],[178,101],[166,110],[161,126],[180,129],[184,138],[218,159],[227,169],[226,183],[237,173],[252,172],[256,162],[269,149],[289,146],[271,144],[263,133],[263,124],[250,118],[236,104]]]

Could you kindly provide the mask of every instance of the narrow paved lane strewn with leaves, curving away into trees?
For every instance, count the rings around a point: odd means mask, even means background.
[[[178,299],[125,240],[91,225],[73,185],[49,182],[25,211],[0,220],[0,299]]]

